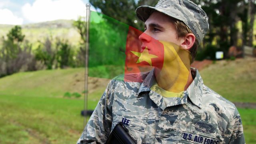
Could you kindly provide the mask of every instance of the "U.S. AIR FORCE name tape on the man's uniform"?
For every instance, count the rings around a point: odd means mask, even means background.
[[[187,142],[192,142],[195,144],[219,144],[220,142],[215,138],[203,136],[201,134],[194,134],[190,132],[183,132],[181,135],[181,140],[185,140]]]

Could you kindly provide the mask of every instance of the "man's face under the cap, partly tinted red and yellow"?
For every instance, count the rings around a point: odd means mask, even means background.
[[[158,56],[158,58],[152,58],[154,67],[162,69],[162,64],[170,63],[176,59],[177,53],[174,52],[174,47],[164,46],[164,49],[161,49],[161,46],[158,44],[160,41],[172,42],[178,46],[182,44],[182,39],[178,38],[176,28],[169,16],[162,14],[160,12],[153,12],[150,17],[145,22],[145,31],[139,37],[142,42],[142,50],[145,48],[148,49],[150,54],[164,54]]]

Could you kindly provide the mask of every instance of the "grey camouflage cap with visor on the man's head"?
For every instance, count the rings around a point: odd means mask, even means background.
[[[209,28],[204,10],[189,0],[160,0],[155,7],[139,6],[136,14],[145,22],[155,10],[184,22],[194,33],[198,43],[203,40]]]

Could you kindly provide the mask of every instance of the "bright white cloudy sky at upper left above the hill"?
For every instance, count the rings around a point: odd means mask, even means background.
[[[85,16],[89,0],[0,0],[0,24],[28,24]],[[95,8],[91,7],[91,10]]]

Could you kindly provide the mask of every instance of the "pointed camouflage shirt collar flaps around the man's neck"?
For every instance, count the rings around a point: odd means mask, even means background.
[[[187,90],[184,92],[184,98],[188,96],[193,104],[202,108],[202,90],[203,90],[203,80],[196,68],[191,68],[192,77],[194,80],[188,86]],[[155,84],[156,78],[154,76],[154,70],[148,72],[146,78],[143,80],[142,84],[140,85],[138,96],[141,96],[141,92],[150,92],[150,88]],[[152,93],[152,92],[151,92]],[[158,102],[162,101],[162,96],[158,97]],[[185,101],[183,101],[185,102]],[[183,103],[182,102],[182,103]],[[162,103],[162,102],[160,102]]]

